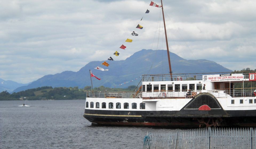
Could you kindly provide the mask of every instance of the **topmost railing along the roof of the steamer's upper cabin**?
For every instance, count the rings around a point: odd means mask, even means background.
[[[172,74],[172,77],[170,74],[163,74],[163,75],[142,75],[142,81],[143,82],[149,82],[149,81],[190,81],[190,80],[202,80],[203,75],[221,75],[221,74],[243,74],[245,79],[249,78],[249,73],[255,73],[254,72],[216,72],[216,73],[179,73],[179,74]]]

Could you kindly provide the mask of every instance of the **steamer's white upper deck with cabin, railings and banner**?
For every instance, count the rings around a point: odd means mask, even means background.
[[[211,93],[217,98],[255,97],[256,73],[190,73],[143,75],[142,85],[132,93],[87,92],[96,98],[193,98],[199,93]],[[250,83],[251,82],[251,83]],[[203,90],[203,85],[206,89]]]

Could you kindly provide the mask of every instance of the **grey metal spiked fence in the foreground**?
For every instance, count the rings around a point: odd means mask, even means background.
[[[144,149],[256,148],[255,128],[201,128],[176,133],[147,132]]]

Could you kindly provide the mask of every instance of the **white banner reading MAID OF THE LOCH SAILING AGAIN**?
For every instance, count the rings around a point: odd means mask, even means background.
[[[203,81],[223,82],[223,81],[243,81],[243,74],[221,74],[221,75],[203,75]]]

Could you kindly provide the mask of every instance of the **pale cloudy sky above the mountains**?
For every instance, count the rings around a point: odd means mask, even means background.
[[[161,8],[150,2],[0,0],[0,78],[28,83],[79,71],[115,51],[120,55],[112,57],[124,60],[141,49],[166,49]],[[168,0],[163,8],[171,52],[231,70],[256,69],[255,0]],[[143,29],[135,28],[138,23]],[[139,36],[130,36],[133,30]]]

